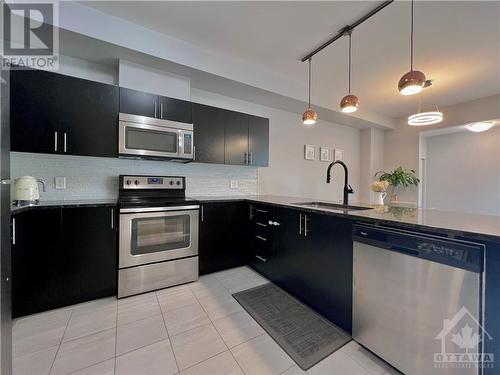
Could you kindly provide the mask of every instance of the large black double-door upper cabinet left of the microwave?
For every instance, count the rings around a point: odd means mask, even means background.
[[[11,74],[11,150],[116,157],[118,87],[39,70]]]

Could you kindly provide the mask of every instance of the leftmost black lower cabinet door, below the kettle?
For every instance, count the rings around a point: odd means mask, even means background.
[[[12,315],[63,306],[61,209],[30,210],[12,221]]]

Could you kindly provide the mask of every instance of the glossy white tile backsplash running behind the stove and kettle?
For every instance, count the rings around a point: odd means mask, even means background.
[[[45,180],[44,201],[116,198],[120,174],[185,176],[188,196],[254,195],[257,172],[256,167],[11,152],[12,178]],[[55,189],[55,177],[66,178],[66,189]],[[231,180],[238,181],[237,189],[230,188]]]

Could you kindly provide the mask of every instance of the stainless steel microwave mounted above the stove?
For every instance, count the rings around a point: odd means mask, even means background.
[[[183,162],[194,158],[193,124],[120,113],[118,127],[120,156]]]

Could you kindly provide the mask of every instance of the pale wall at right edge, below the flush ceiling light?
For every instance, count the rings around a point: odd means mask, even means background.
[[[500,126],[427,138],[426,207],[500,215]]]

